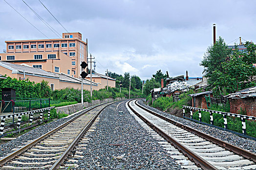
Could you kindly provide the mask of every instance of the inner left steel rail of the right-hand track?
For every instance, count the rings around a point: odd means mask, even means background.
[[[138,100],[136,100],[137,102]],[[192,152],[190,149],[182,145],[180,142],[175,140],[173,137],[169,136],[167,133],[165,133],[161,128],[158,126],[152,124],[147,118],[141,116],[139,113],[137,113],[132,107],[130,106],[131,101],[128,102],[128,107],[132,110],[134,114],[136,114],[140,119],[142,119],[145,123],[147,123],[152,129],[154,129],[157,133],[159,133],[161,136],[165,137],[167,141],[169,141],[171,144],[176,146],[179,151],[181,151],[185,156],[189,157],[192,162],[196,164],[197,167],[201,167],[203,170],[218,170],[216,167],[214,167],[212,164],[198,156],[196,153]],[[137,105],[137,103],[135,104]],[[147,110],[146,110],[147,111]]]

